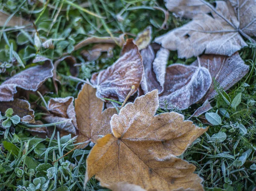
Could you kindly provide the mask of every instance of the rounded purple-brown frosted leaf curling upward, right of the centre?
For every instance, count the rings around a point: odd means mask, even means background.
[[[166,68],[163,93],[160,94],[160,107],[180,110],[200,101],[212,84],[212,77],[204,67],[172,64]]]

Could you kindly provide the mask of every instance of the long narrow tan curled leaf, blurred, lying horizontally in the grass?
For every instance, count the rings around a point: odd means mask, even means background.
[[[87,46],[88,44],[93,43],[112,43],[112,44],[118,44],[119,46],[122,46],[124,44],[124,37],[123,35],[120,35],[119,38],[114,37],[89,37],[78,43],[75,48],[75,50],[81,49],[84,46]]]

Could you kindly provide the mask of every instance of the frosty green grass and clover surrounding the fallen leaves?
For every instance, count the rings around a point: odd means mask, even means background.
[[[90,36],[115,36],[126,32],[127,37],[133,37],[148,25],[153,26],[153,37],[166,33],[160,30],[164,20],[161,11],[152,9],[157,3],[164,7],[162,1],[142,0],[89,0],[88,6],[81,8],[84,1],[50,0],[40,1],[3,0],[0,7],[10,14],[22,15],[26,19],[34,20],[35,26],[31,28],[2,29],[0,32],[0,83],[10,76],[31,67],[35,55],[44,55],[53,61],[64,53],[76,57],[79,67],[78,78],[86,80],[93,72],[108,67],[119,57],[120,47],[113,51],[113,58],[100,58],[97,61],[86,62],[80,51],[73,52],[74,45]],[[43,3],[41,3],[43,2]],[[120,13],[120,14],[119,14]],[[119,17],[116,15],[119,14]],[[99,18],[103,17],[103,18]],[[182,26],[188,20],[183,20],[170,15],[169,29]],[[37,33],[35,33],[35,29]],[[38,38],[39,37],[39,38]],[[38,41],[39,39],[39,41]],[[35,41],[36,40],[36,41]],[[44,41],[51,41],[52,49],[40,46]],[[249,42],[248,42],[249,43]],[[90,48],[91,45],[86,46]],[[186,152],[180,156],[193,163],[201,177],[204,186],[234,191],[251,191],[256,182],[256,44],[241,49],[241,57],[250,66],[250,72],[226,91],[230,100],[241,93],[241,103],[232,108],[227,104],[221,94],[223,90],[215,84],[218,96],[212,102],[212,110],[221,116],[220,125],[212,126],[207,133],[198,138]],[[171,52],[169,64],[190,64],[195,58],[188,60],[177,58],[177,52]],[[46,94],[46,101],[51,97],[77,97],[81,81],[69,78],[70,66],[63,61],[59,64],[58,76],[61,81],[58,95]],[[46,81],[49,92],[55,92],[51,79]],[[40,96],[32,94],[29,101],[43,105]],[[195,104],[187,110],[179,111],[186,118],[191,116],[195,109],[200,107]],[[221,115],[220,108],[229,114],[229,118]],[[158,110],[166,112],[166,110]],[[43,110],[35,109],[35,119],[40,120]],[[199,118],[191,119],[199,127],[204,127]],[[239,126],[240,125],[240,126]],[[242,134],[242,126],[247,133]],[[241,127],[241,128],[240,128]],[[91,179],[84,187],[84,174],[86,170],[85,159],[90,150],[76,150],[65,156],[55,165],[52,162],[74,148],[75,139],[70,136],[47,139],[35,138],[30,135],[22,124],[17,124],[9,129],[9,133],[0,131],[0,190],[26,190],[34,189],[38,181],[45,182],[45,190],[58,188],[58,191],[76,190],[106,190],[99,186],[99,182]],[[54,127],[50,127],[53,128]],[[7,131],[6,131],[7,132]],[[218,133],[226,134],[226,139],[213,139]],[[4,136],[6,139],[4,140]],[[6,141],[6,142],[4,142]],[[7,150],[4,150],[4,148]],[[244,157],[246,153],[247,157]],[[48,163],[48,164],[46,164]],[[41,164],[41,165],[39,165]],[[47,171],[47,169],[50,170]],[[15,170],[16,169],[16,170]],[[44,178],[42,178],[44,177]],[[36,179],[41,178],[41,179]],[[33,183],[33,180],[34,184]],[[32,185],[29,185],[32,184]],[[33,187],[34,185],[34,187]],[[41,190],[44,190],[41,185]]]

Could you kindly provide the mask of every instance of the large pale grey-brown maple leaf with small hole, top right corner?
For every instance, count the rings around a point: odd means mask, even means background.
[[[255,42],[256,0],[215,1],[167,0],[169,11],[192,19],[155,39],[169,50],[177,50],[179,58],[205,54],[233,55],[247,46],[242,36]]]

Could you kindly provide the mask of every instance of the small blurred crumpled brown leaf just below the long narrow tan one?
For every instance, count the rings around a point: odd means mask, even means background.
[[[95,61],[101,55],[102,52],[107,52],[107,57],[113,57],[113,48],[115,44],[105,43],[105,44],[96,44],[89,50],[82,50],[81,55],[83,55],[88,61]]]

